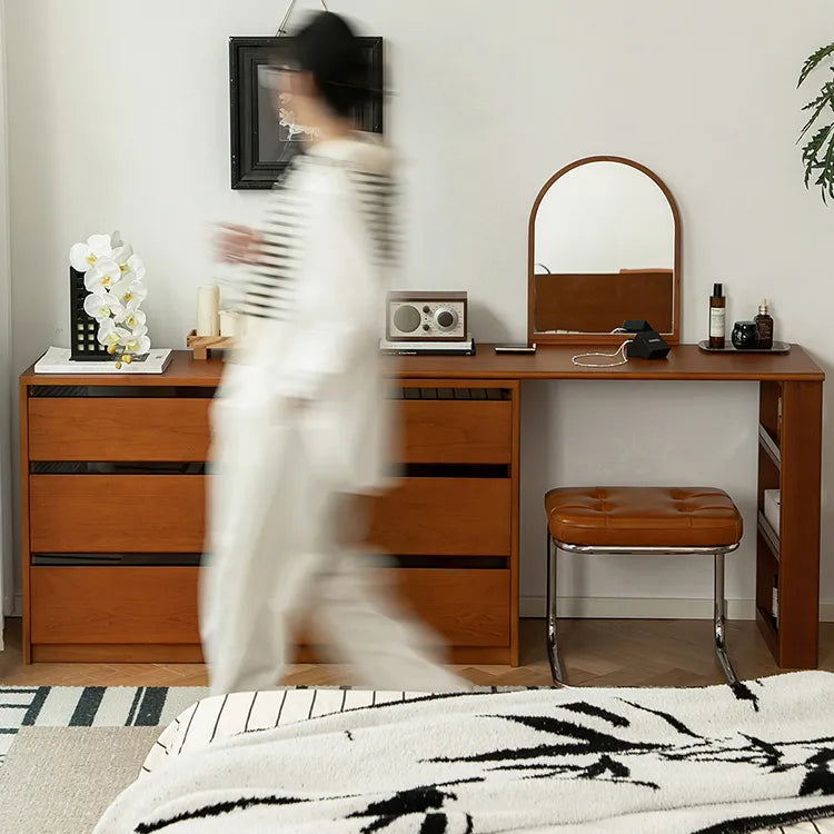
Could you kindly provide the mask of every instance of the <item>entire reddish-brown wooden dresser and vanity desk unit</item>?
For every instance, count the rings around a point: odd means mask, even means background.
[[[798,346],[711,355],[679,345],[664,360],[574,366],[588,349],[497,355],[480,345],[474,357],[393,360],[404,477],[378,502],[373,533],[404,596],[444,634],[451,661],[518,663],[524,380],[755,381],[759,515],[746,535],[757,538],[758,625],[781,667],[815,667],[822,369]],[[21,375],[27,662],[200,658],[203,465],[221,367],[178,351],[161,376]],[[780,536],[762,513],[771,488],[782,490]]]

